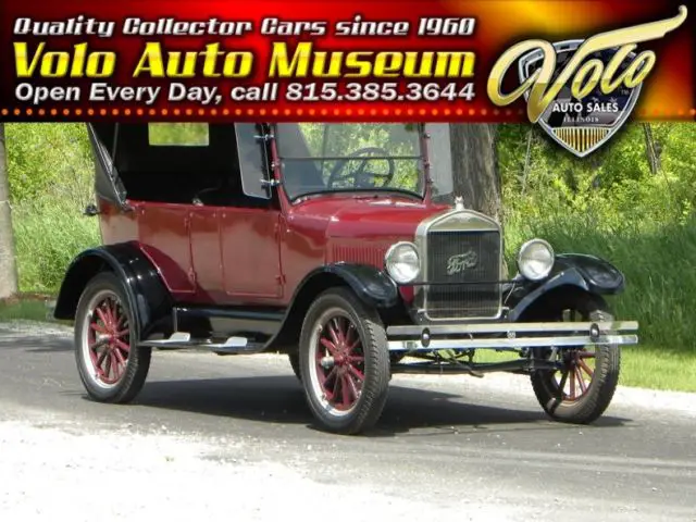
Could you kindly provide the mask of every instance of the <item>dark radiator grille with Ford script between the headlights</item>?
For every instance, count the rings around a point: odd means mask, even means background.
[[[500,233],[431,232],[427,235],[426,276],[425,310],[431,319],[497,315]]]

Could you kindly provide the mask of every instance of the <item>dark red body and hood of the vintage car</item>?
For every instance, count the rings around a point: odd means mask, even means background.
[[[288,304],[304,277],[326,263],[382,269],[390,245],[413,240],[422,220],[447,209],[364,195],[282,199],[266,209],[129,203],[132,212],[102,206],[104,243],[137,241],[175,299],[209,304]],[[410,300],[412,293],[402,290]]]

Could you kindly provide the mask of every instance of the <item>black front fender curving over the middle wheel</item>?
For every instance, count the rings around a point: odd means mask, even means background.
[[[348,286],[362,302],[378,313],[393,312],[401,304],[396,283],[375,266],[344,262],[320,266],[297,286],[279,331],[269,346],[279,349],[294,347],[313,299],[332,286]]]

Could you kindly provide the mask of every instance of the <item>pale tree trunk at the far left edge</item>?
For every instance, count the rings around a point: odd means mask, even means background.
[[[4,124],[0,123],[0,299],[17,293],[14,235],[10,208],[10,184],[4,146]]]

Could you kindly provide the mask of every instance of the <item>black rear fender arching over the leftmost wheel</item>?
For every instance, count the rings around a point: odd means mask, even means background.
[[[135,245],[122,243],[100,246],[80,252],[70,264],[55,302],[53,316],[74,320],[79,297],[89,279],[109,270],[125,283],[128,304],[145,338],[161,319],[169,319],[174,304],[157,268]]]

